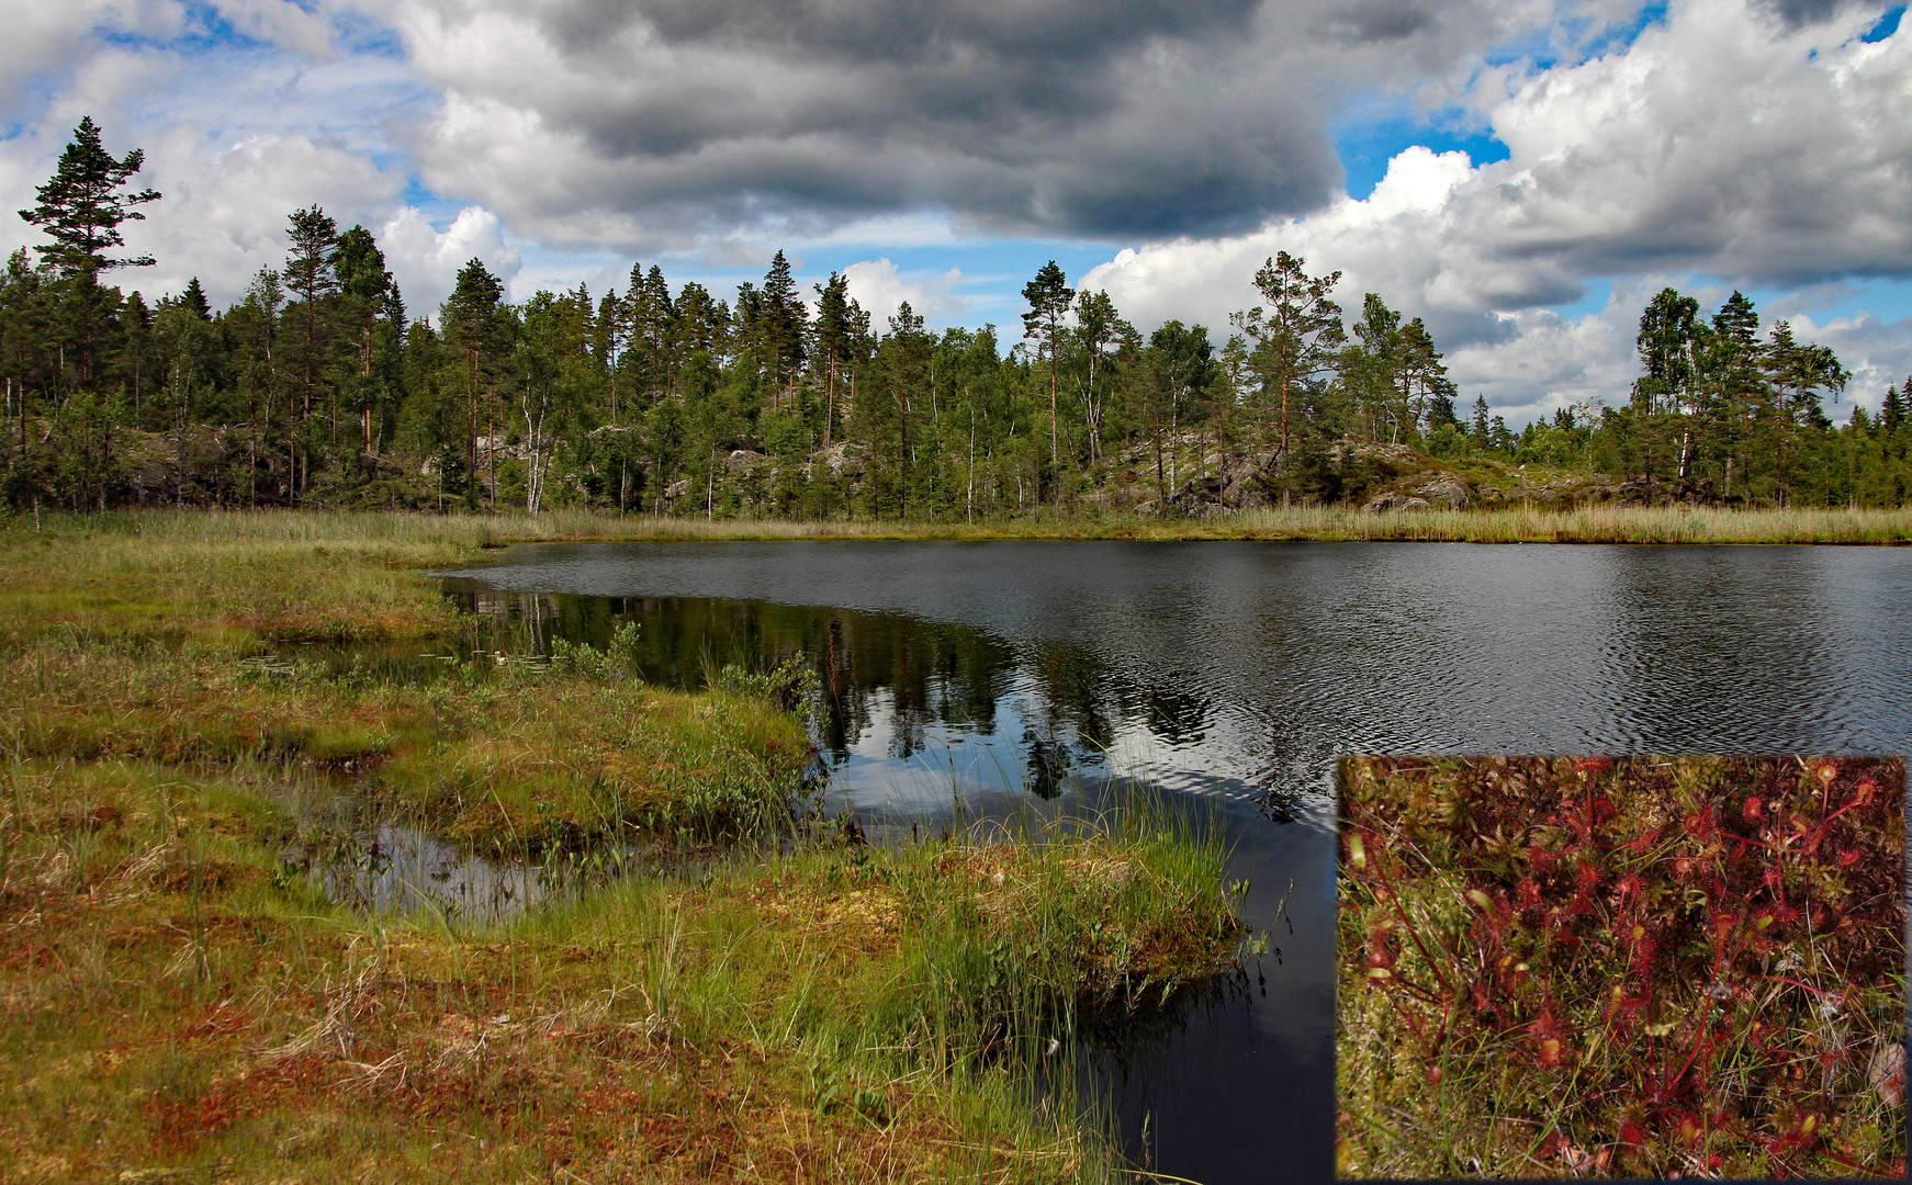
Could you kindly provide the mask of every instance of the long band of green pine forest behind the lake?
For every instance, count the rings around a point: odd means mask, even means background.
[[[700,518],[908,518],[1359,505],[1413,449],[1442,463],[1597,474],[1600,499],[1901,506],[1912,378],[1879,415],[1824,346],[1734,292],[1704,315],[1665,289],[1640,373],[1610,405],[1518,430],[1463,403],[1421,319],[1359,310],[1287,252],[1226,327],[1140,331],[1054,262],[1021,325],[883,325],[841,273],[805,294],[784,252],[734,294],[633,264],[512,304],[480,260],[430,317],[363,226],[319,206],[231,308],[199,281],[147,300],[113,273],[132,189],[92,118],[38,205],[46,237],[0,275],[0,487],[50,506],[591,506]],[[1350,323],[1352,317],[1352,323]]]

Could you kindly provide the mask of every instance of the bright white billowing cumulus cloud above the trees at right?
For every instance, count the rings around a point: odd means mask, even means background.
[[[1124,250],[1082,279],[1138,323],[1226,325],[1277,250],[1426,317],[1467,396],[1514,417],[1619,398],[1639,308],[1660,281],[1730,291],[1912,273],[1912,31],[1866,44],[1853,10],[1792,23],[1740,0],[1683,0],[1631,46],[1484,76],[1474,101],[1509,159],[1413,147],[1365,201],[1222,239]],[[1614,277],[1598,312],[1547,306]],[[1654,279],[1654,283],[1646,283]],[[1811,321],[1795,329],[1820,333]],[[1826,327],[1870,373],[1904,323]]]

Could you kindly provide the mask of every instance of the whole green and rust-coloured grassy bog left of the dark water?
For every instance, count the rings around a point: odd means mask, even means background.
[[[765,698],[468,644],[419,570],[493,529],[0,529],[0,1175],[1124,1177],[1071,1036],[1233,965],[1214,837],[1138,807],[801,839],[803,722]],[[300,810],[340,786],[478,852],[696,864],[365,912]]]

